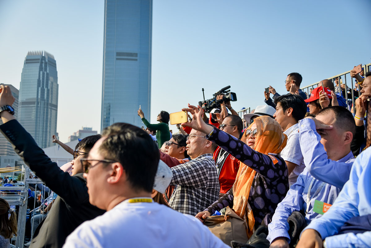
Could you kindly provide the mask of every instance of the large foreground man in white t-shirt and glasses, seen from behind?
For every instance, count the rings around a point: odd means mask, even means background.
[[[63,247],[225,247],[190,215],[152,202],[160,154],[140,128],[116,123],[83,160],[91,204],[107,210],[82,223]]]

